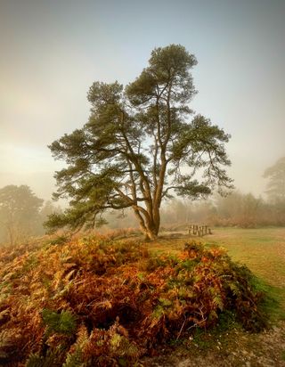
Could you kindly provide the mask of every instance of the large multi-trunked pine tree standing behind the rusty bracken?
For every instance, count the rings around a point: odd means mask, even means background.
[[[125,88],[94,82],[88,122],[50,146],[68,165],[55,174],[54,197],[69,198],[64,213],[50,216],[50,229],[94,226],[106,209],[133,208],[152,240],[163,199],[197,199],[214,186],[231,187],[224,170],[230,136],[189,108],[196,63],[182,45],[168,45],[154,49],[149,66]]]

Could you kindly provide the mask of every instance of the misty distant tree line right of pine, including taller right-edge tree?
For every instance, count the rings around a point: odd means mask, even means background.
[[[172,200],[162,210],[164,225],[207,223],[243,228],[285,225],[285,157],[265,170],[266,200],[252,193],[232,192],[226,197],[198,202]]]

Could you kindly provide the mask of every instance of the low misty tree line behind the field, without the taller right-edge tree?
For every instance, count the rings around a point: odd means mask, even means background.
[[[241,192],[199,202],[175,199],[162,209],[161,221],[168,228],[195,223],[242,228],[285,225],[285,202],[270,202]]]

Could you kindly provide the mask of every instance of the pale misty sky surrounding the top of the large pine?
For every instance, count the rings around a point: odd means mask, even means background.
[[[232,135],[236,187],[263,193],[285,155],[285,0],[0,0],[0,188],[49,199],[47,145],[85,124],[89,86],[133,81],[173,43],[198,59],[191,107]]]

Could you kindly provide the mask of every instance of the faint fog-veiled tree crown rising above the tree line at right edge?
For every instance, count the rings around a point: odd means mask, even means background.
[[[268,167],[264,177],[269,179],[266,190],[269,200],[285,203],[285,157]]]

